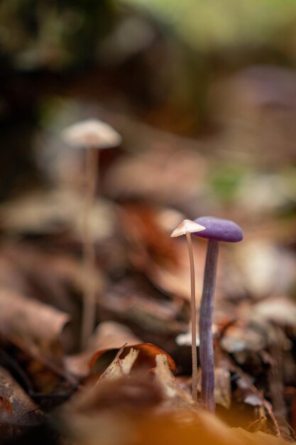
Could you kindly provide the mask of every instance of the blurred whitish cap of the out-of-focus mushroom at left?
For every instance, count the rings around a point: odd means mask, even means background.
[[[109,149],[121,144],[121,135],[99,119],[87,119],[70,125],[62,132],[62,139],[77,148]]]

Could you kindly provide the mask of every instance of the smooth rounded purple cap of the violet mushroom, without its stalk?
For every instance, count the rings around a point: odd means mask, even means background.
[[[206,227],[206,230],[192,233],[197,237],[225,242],[239,242],[243,239],[241,227],[230,220],[214,218],[214,216],[202,216],[194,220],[194,223]]]

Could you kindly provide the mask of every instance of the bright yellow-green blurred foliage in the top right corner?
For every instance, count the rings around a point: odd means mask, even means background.
[[[295,37],[294,0],[124,0],[172,26],[192,48],[225,49]]]

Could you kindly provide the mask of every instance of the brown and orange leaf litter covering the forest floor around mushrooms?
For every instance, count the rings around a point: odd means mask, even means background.
[[[213,324],[216,416],[192,403],[189,265],[184,240],[172,241],[170,232],[176,219],[212,213],[217,198],[209,199],[213,161],[184,142],[185,149],[170,140],[160,150],[152,141],[106,169],[106,193],[91,215],[97,328],[84,350],[78,346],[79,186],[74,193],[65,178],[52,191],[1,205],[4,436],[49,422],[61,444],[293,440],[287,424],[296,424],[295,217],[280,220],[278,202],[269,219],[258,207],[250,215],[240,208],[238,215],[235,200],[227,212],[220,208],[246,227],[246,241],[231,250],[221,246]],[[164,171],[168,156],[172,163]],[[193,244],[199,306],[206,245]]]

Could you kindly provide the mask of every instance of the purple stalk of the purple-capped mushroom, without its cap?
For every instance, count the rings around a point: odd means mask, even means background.
[[[204,286],[199,310],[200,364],[202,366],[202,404],[210,412],[215,411],[214,397],[214,346],[212,337],[212,313],[219,243],[209,240],[204,267]]]

